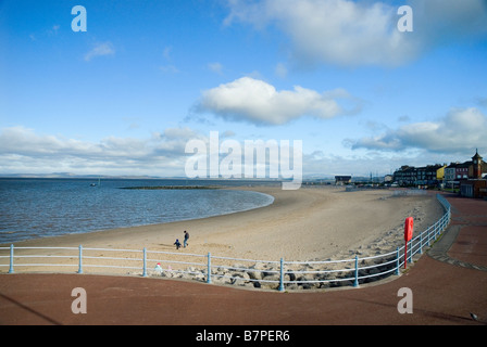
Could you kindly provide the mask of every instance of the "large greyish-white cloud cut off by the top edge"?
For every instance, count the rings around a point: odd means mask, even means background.
[[[397,66],[432,47],[487,33],[485,0],[405,1],[413,31],[400,33],[399,4],[349,0],[229,0],[226,25],[275,26],[300,64]]]

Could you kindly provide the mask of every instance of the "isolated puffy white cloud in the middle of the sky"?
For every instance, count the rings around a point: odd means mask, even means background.
[[[351,101],[352,108],[344,108],[338,100]],[[196,108],[230,120],[282,125],[302,116],[332,118],[357,113],[360,103],[342,89],[319,93],[296,86],[294,90],[277,91],[265,81],[242,77],[203,91]]]

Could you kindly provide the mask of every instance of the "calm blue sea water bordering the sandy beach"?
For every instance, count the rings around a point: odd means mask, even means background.
[[[248,210],[270,195],[238,190],[126,190],[127,187],[237,185],[234,181],[0,179],[0,244]],[[248,184],[245,183],[245,184]],[[262,183],[257,183],[262,184]]]

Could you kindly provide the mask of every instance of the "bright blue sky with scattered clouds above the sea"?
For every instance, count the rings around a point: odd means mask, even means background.
[[[0,0],[0,174],[185,177],[212,131],[304,177],[487,157],[486,63],[486,0]]]

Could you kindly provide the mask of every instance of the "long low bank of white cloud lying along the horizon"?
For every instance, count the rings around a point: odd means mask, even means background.
[[[234,136],[234,131],[227,130],[220,134],[220,141]],[[209,145],[208,133],[190,128],[167,128],[146,139],[109,137],[98,142],[40,134],[24,127],[3,128],[0,129],[0,174],[73,172],[184,177],[186,162],[192,156],[185,153],[185,147],[189,140],[195,139]],[[467,151],[466,155],[471,156],[471,152]],[[363,156],[346,156],[333,151],[316,151],[303,153],[302,168],[305,176],[369,175],[371,171],[388,174],[403,164],[425,165],[436,163],[437,158],[438,155],[422,155],[404,162],[402,152],[371,151]],[[458,158],[445,158],[446,162],[453,159]]]

